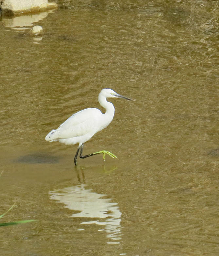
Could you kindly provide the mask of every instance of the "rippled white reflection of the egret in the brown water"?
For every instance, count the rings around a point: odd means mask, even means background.
[[[106,171],[105,166],[104,171]],[[77,211],[71,216],[81,218],[81,224],[101,225],[102,227],[97,231],[107,233],[106,237],[110,239],[107,244],[119,244],[122,234],[121,212],[118,203],[106,198],[107,195],[95,193],[88,188],[88,185],[85,184],[83,167],[80,167],[80,171],[76,167],[75,172],[80,184],[49,191],[50,199],[56,200],[57,203],[63,203],[64,208]],[[85,230],[85,227],[78,229],[78,231],[82,230]]]

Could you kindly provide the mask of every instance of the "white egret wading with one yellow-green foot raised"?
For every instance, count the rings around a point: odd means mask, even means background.
[[[98,100],[102,107],[106,109],[105,114],[103,114],[97,108],[86,108],[83,109],[71,117],[69,117],[63,124],[59,126],[56,130],[52,130],[46,135],[47,141],[59,141],[66,145],[79,143],[78,150],[74,157],[75,165],[77,165],[77,157],[80,150],[80,158],[86,158],[97,154],[103,154],[103,159],[105,160],[105,154],[111,156],[112,158],[117,158],[115,155],[109,151],[102,150],[96,153],[91,153],[89,155],[82,155],[83,143],[88,141],[95,133],[101,131],[106,126],[110,124],[113,120],[115,108],[111,102],[108,102],[106,98],[124,98],[132,100],[121,96],[111,89],[102,89]]]

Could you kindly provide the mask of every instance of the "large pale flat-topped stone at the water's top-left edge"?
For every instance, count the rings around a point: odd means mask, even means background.
[[[0,3],[2,14],[45,11],[58,7],[56,3],[48,3],[47,0],[2,0]]]

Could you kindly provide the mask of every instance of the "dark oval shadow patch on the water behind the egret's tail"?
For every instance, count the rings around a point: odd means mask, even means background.
[[[59,158],[45,153],[33,153],[20,156],[13,162],[17,163],[58,163]]]

